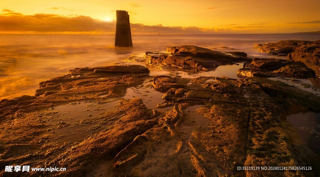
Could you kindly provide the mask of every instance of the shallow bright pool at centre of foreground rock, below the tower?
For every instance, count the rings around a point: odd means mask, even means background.
[[[144,105],[148,108],[156,108],[158,103],[162,103],[163,95],[164,93],[155,90],[151,82],[146,82],[137,87],[127,88],[127,93],[122,98],[132,99],[134,97],[140,97],[142,98]]]

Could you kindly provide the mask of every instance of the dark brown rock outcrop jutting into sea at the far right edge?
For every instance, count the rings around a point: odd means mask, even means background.
[[[256,44],[260,52],[288,55],[289,60],[300,61],[314,70],[320,77],[320,41],[279,41],[277,43]]]

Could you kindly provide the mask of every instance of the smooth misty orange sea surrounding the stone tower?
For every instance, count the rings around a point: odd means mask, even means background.
[[[197,45],[243,51],[249,57],[271,57],[253,45],[279,40],[314,41],[320,40],[320,34],[133,35],[134,47],[126,50],[115,49],[114,39],[114,35],[0,35],[0,100],[34,95],[39,82],[68,74],[69,69],[112,65],[136,53]],[[215,74],[220,76],[219,72]]]

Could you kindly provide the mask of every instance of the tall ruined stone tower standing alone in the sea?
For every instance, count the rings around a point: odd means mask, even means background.
[[[116,11],[116,47],[132,47],[130,20],[127,11]]]

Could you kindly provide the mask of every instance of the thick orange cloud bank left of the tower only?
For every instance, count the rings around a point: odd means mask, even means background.
[[[100,21],[87,16],[63,16],[57,14],[23,15],[8,11],[0,15],[0,31],[9,32],[113,32],[115,27],[115,22]]]

